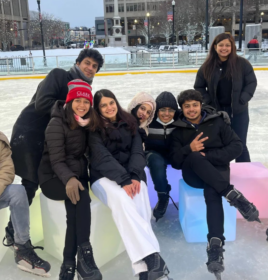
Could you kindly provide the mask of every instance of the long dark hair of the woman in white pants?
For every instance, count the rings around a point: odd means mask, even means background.
[[[96,110],[96,112],[98,113],[98,115],[100,116],[101,128],[103,130],[105,128],[114,129],[112,122],[109,119],[104,118],[100,112],[99,105],[100,105],[100,101],[101,101],[102,97],[109,97],[109,98],[114,99],[116,106],[117,106],[117,110],[118,110],[117,115],[116,115],[117,120],[127,123],[128,129],[131,131],[131,134],[135,135],[136,128],[137,128],[136,119],[120,106],[115,95],[108,89],[101,89],[101,90],[97,91],[94,95],[94,100],[93,100],[93,107]]]

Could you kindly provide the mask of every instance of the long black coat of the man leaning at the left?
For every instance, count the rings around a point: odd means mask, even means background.
[[[73,79],[81,77],[72,70],[53,69],[38,85],[29,105],[20,113],[10,141],[15,173],[20,177],[38,183],[37,170],[51,108],[57,100],[66,99],[67,84]]]

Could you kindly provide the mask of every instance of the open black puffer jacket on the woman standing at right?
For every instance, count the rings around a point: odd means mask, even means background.
[[[251,64],[244,58],[238,57],[237,63],[239,71],[232,77],[232,110],[233,114],[239,114],[248,108],[248,102],[253,97],[257,87],[257,79]],[[194,88],[199,91],[204,99],[204,103],[213,106],[217,110],[222,110],[217,99],[217,86],[221,77],[220,68],[215,69],[210,82],[205,80],[203,66],[198,70]]]

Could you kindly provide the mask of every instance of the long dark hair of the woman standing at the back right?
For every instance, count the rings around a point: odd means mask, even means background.
[[[231,43],[231,53],[229,54],[229,57],[228,57],[226,77],[228,79],[231,79],[232,75],[237,71],[238,56],[236,54],[236,46],[235,46],[234,38],[230,34],[221,33],[213,40],[210,50],[209,50],[208,57],[202,66],[204,78],[207,81],[211,80],[213,72],[221,64],[221,60],[215,50],[215,46],[218,45],[221,41],[223,41],[225,39],[228,39],[229,42]]]

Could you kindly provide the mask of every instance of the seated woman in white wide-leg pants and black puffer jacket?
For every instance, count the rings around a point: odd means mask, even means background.
[[[91,189],[111,209],[134,274],[140,280],[160,279],[168,269],[151,227],[146,162],[136,120],[109,90],[96,92],[94,109],[101,125],[88,138]]]

